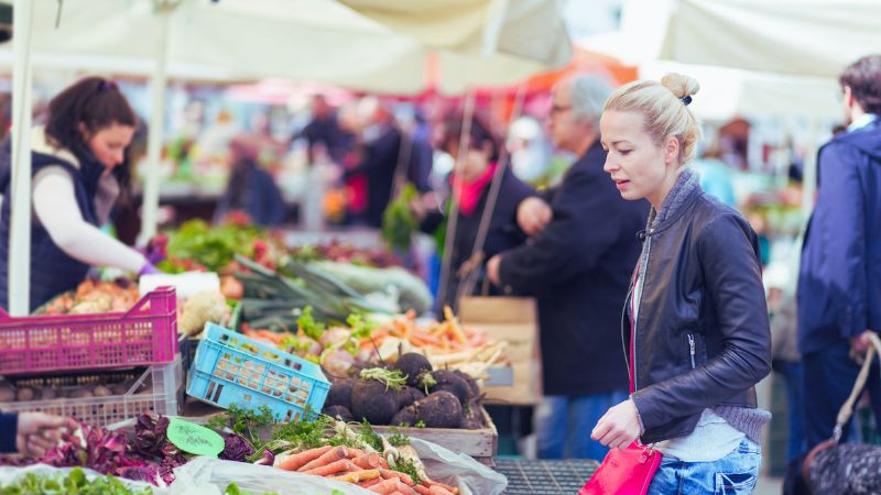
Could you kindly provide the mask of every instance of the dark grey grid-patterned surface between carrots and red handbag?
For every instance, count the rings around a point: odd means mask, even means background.
[[[597,470],[589,459],[531,460],[496,458],[494,470],[508,477],[505,495],[573,495]]]

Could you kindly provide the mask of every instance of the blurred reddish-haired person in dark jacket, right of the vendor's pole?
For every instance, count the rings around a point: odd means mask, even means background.
[[[260,227],[275,227],[285,220],[287,207],[269,172],[260,167],[260,141],[239,135],[229,143],[232,165],[229,183],[217,204],[215,223],[235,211],[248,215]]]

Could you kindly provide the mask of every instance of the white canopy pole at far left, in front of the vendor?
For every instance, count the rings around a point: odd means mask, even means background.
[[[15,0],[12,18],[12,183],[9,232],[9,314],[26,316],[31,296],[31,0]],[[0,301],[6,305],[7,301]]]

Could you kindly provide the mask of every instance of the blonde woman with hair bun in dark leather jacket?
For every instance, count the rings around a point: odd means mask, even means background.
[[[640,439],[663,453],[650,494],[751,493],[761,465],[753,386],[771,370],[755,233],[704,194],[687,167],[700,139],[696,80],[619,88],[600,119],[605,170],[621,196],[652,205],[622,318],[630,398],[592,438]]]

